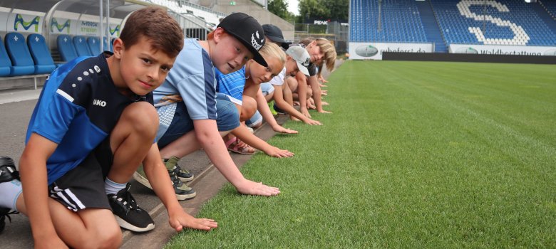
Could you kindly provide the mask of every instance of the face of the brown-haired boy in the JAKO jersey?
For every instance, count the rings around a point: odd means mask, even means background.
[[[117,48],[115,45],[114,51],[115,55],[120,55],[120,76],[123,83],[137,95],[145,95],[158,88],[175,61],[175,57],[170,57],[161,50],[155,51],[145,37],[141,37],[138,43],[125,50],[123,46]]]

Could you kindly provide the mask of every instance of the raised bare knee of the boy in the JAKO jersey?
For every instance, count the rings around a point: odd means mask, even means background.
[[[128,122],[133,132],[143,134],[145,137],[154,137],[158,129],[158,113],[148,102],[135,102],[129,105],[123,111],[120,120]]]

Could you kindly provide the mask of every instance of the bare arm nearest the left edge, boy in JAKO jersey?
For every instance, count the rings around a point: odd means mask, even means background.
[[[31,222],[36,248],[67,248],[56,233],[48,206],[46,159],[56,147],[58,144],[33,133],[19,160],[24,209]]]

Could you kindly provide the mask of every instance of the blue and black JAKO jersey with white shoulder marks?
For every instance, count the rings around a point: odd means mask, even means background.
[[[48,184],[78,164],[115,127],[134,101],[153,102],[153,95],[132,98],[120,94],[110,77],[105,54],[80,57],[54,70],[46,80],[27,128],[58,144],[46,161]]]

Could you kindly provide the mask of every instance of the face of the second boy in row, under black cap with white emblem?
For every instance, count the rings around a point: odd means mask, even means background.
[[[223,74],[240,70],[253,54],[243,43],[227,33],[215,33],[216,46],[210,51],[210,58],[215,68]]]

